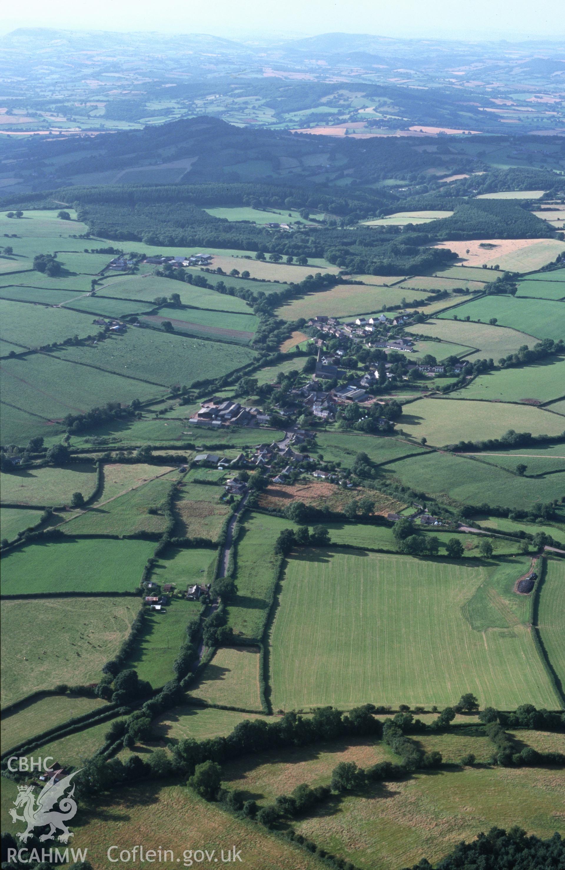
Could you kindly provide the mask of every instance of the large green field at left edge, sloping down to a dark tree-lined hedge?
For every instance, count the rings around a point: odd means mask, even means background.
[[[235,350],[239,351],[239,348]],[[129,405],[134,398],[143,401],[163,395],[164,385],[149,384],[131,377],[121,378],[114,371],[104,371],[103,368],[96,369],[90,365],[73,365],[63,358],[63,353],[65,357],[76,358],[77,362],[93,362],[95,365],[97,362],[96,347],[69,348],[57,356],[34,353],[25,358],[4,359],[0,365],[3,401],[45,420],[58,421],[69,413],[84,413],[110,400]],[[111,360],[111,355],[109,356]],[[177,365],[179,362],[177,360]],[[150,369],[150,359],[146,360],[146,365]],[[126,365],[123,365],[123,369],[125,368]],[[170,381],[173,382],[172,374]],[[61,389],[63,384],[64,391]],[[11,409],[4,406],[3,417],[10,419],[10,414]],[[32,419],[37,429],[37,418]],[[41,434],[43,435],[43,431]],[[28,438],[30,432],[24,428],[17,441],[25,444]]]

